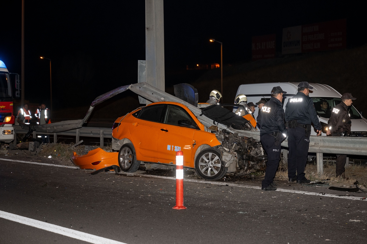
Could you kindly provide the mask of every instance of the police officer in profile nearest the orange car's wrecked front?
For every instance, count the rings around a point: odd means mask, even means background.
[[[280,86],[273,87],[269,102],[261,108],[261,144],[268,155],[265,178],[261,183],[262,190],[276,190],[272,185],[280,158],[280,144],[287,137],[284,124],[284,109],[281,101],[286,92]]]

